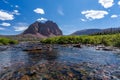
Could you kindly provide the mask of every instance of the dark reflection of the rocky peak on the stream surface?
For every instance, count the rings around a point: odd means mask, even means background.
[[[36,52],[27,52],[28,63],[35,64],[39,63],[41,60],[50,60],[55,61],[58,58],[58,51],[36,51]]]

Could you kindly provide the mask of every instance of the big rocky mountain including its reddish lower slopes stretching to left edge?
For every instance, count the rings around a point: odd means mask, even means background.
[[[63,35],[58,25],[53,21],[36,21],[31,24],[23,33],[18,35],[0,35],[19,41],[38,41],[43,38]]]

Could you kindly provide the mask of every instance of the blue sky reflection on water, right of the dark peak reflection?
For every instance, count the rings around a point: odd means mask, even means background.
[[[59,49],[59,60],[72,63],[91,62],[102,65],[120,65],[120,56],[112,51],[98,51],[94,47],[61,48]]]

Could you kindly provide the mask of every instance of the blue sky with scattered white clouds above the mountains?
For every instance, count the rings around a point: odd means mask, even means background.
[[[37,20],[56,22],[65,35],[120,27],[120,0],[0,0],[0,34],[20,34]]]

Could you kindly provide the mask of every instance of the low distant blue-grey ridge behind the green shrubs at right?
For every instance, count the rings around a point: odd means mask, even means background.
[[[71,35],[114,34],[114,33],[120,33],[120,28],[84,29],[76,31]]]

